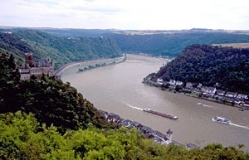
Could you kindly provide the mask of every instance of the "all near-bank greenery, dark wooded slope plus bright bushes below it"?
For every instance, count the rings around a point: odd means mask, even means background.
[[[53,77],[20,81],[14,57],[0,53],[0,159],[249,159],[237,147],[187,150],[117,128],[69,83]]]

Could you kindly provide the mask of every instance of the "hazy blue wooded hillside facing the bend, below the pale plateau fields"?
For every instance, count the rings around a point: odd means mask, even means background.
[[[146,53],[153,56],[176,57],[192,44],[242,43],[249,42],[249,35],[215,33],[175,34],[108,34],[113,37],[123,52]]]

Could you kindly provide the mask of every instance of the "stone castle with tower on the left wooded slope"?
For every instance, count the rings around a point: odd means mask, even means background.
[[[33,53],[25,53],[25,65],[18,69],[21,80],[28,80],[31,76],[41,78],[42,75],[53,76],[54,64],[53,60],[43,59],[39,62],[34,62]]]

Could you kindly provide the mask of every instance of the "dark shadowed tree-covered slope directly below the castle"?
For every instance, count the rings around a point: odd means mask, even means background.
[[[53,124],[60,132],[67,129],[108,127],[109,123],[92,103],[83,98],[69,83],[56,81],[54,77],[43,76],[19,81],[19,74],[13,67],[13,57],[0,57],[0,113],[34,113],[41,123]]]

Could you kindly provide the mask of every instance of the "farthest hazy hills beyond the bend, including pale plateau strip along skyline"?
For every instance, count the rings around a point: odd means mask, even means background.
[[[122,52],[176,57],[192,44],[248,43],[249,31],[226,31],[193,28],[190,30],[98,30],[42,29],[56,36],[98,37],[115,39]]]

